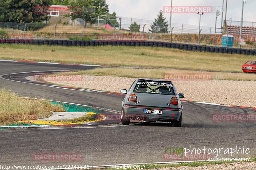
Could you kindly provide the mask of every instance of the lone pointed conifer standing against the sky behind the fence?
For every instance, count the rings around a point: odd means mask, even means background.
[[[149,32],[151,33],[165,33],[165,30],[167,30],[167,22],[165,21],[164,12],[162,10],[159,11],[159,14],[157,15],[157,18],[155,18],[155,21],[151,24],[151,29],[149,29]]]

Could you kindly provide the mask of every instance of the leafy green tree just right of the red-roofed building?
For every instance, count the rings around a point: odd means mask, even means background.
[[[96,23],[99,15],[106,15],[108,12],[108,4],[106,0],[70,0],[68,6],[82,6],[81,12],[67,14],[71,20],[82,18],[85,21],[85,26],[89,22]]]

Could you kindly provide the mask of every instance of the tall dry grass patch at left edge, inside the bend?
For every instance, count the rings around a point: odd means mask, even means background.
[[[22,98],[7,89],[0,89],[0,98],[0,125],[28,124],[16,122],[22,119],[21,115],[33,115],[33,118],[40,119],[52,115],[51,111],[65,111],[61,105],[54,105],[46,100]]]

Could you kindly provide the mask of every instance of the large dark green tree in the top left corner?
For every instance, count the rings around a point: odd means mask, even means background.
[[[35,8],[51,4],[51,0],[0,0],[0,21],[29,23],[48,20],[47,13],[36,13]]]

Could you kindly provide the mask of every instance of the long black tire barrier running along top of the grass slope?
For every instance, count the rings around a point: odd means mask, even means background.
[[[99,45],[122,45],[122,46],[148,46],[179,48],[183,50],[205,51],[224,54],[256,55],[256,50],[225,48],[215,46],[203,46],[196,44],[183,44],[158,41],[77,41],[77,40],[23,40],[23,39],[0,39],[0,43],[34,44],[34,45],[64,45],[64,46],[99,46]]]

